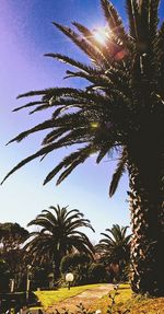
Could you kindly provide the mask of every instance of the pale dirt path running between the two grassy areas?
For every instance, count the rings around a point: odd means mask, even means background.
[[[82,303],[86,309],[89,309],[95,300],[108,294],[110,290],[113,290],[113,284],[102,284],[101,287],[97,287],[95,289],[89,289],[78,295],[71,296],[69,299],[66,299],[65,301],[54,304],[52,306],[49,306],[46,313],[52,313],[56,309],[60,312],[62,312],[63,309],[67,309],[75,313],[78,310],[77,305],[79,305],[80,303]]]

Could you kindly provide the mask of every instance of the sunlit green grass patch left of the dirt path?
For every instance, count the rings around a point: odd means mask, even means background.
[[[101,283],[72,287],[70,290],[68,290],[68,288],[61,288],[55,291],[36,291],[35,294],[38,298],[38,300],[42,302],[43,307],[46,309],[70,296],[77,295],[91,288],[97,288],[99,286]]]

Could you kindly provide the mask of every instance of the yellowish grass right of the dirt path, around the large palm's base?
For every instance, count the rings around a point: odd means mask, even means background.
[[[126,310],[130,310],[130,314],[164,314],[164,298],[134,296],[129,284],[121,284],[117,292],[115,307],[112,313],[119,313],[117,311],[124,313]],[[114,293],[110,294],[114,295]],[[110,304],[112,300],[108,295],[105,295],[97,300],[90,310],[96,311],[98,309],[102,314],[106,314]]]

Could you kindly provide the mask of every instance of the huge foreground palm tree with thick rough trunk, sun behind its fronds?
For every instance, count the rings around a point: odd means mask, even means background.
[[[48,130],[43,148],[20,162],[5,178],[36,158],[80,144],[44,182],[61,171],[59,184],[91,153],[97,153],[99,163],[115,151],[119,162],[109,195],[114,195],[125,170],[130,182],[132,289],[163,295],[164,23],[159,25],[160,0],[125,0],[129,31],[110,1],[99,1],[107,23],[104,43],[95,38],[95,31],[80,23],[73,23],[77,32],[54,23],[89,56],[91,63],[60,54],[47,56],[78,69],[67,71],[67,77],[85,79],[87,85],[51,88],[19,96],[39,96],[22,106],[32,108],[31,113],[49,107],[54,113],[11,140],[20,142],[28,135]]]

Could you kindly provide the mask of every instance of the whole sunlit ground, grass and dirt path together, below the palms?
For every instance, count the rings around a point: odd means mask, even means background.
[[[93,313],[101,310],[102,314],[164,314],[164,298],[136,296],[129,284],[120,284],[117,291],[113,289],[113,284],[105,283],[73,287],[71,290],[65,288],[57,291],[37,291],[36,293],[44,305],[45,313],[49,314],[55,313],[56,309],[60,313],[63,309],[75,313],[77,305],[80,303]],[[114,295],[115,306],[113,312],[109,312]]]

